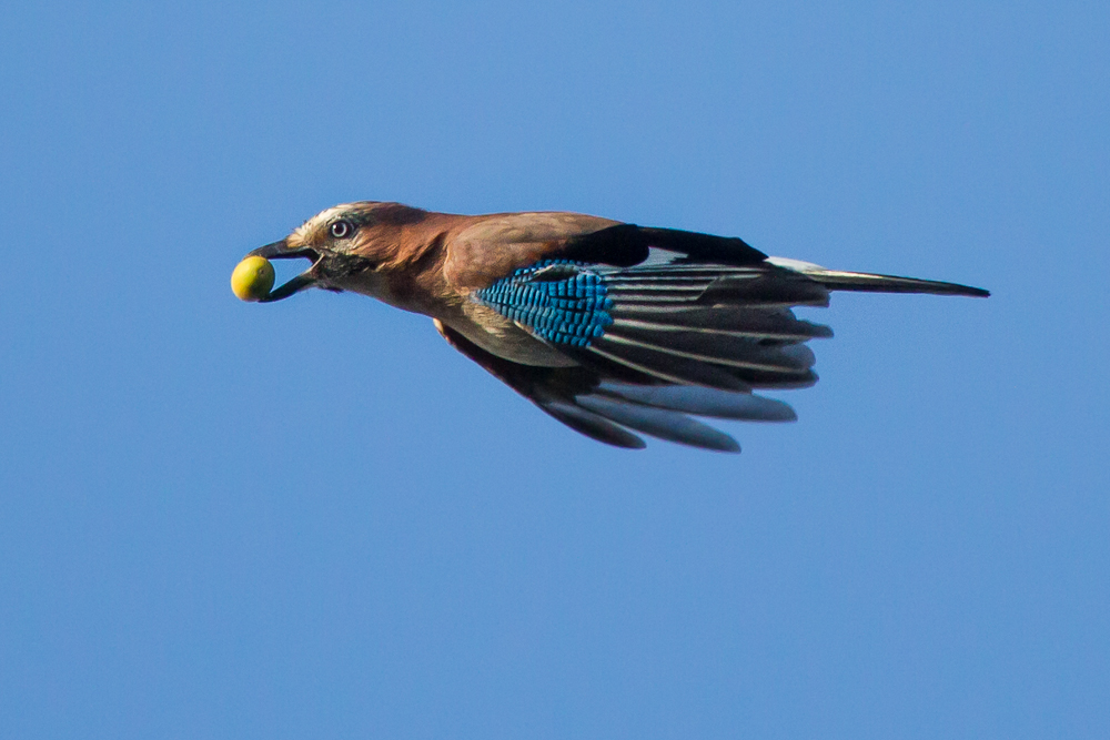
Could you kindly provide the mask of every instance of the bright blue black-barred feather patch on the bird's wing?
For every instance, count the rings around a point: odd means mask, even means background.
[[[581,262],[545,260],[517,270],[474,297],[555,344],[588,347],[613,323],[605,278]]]

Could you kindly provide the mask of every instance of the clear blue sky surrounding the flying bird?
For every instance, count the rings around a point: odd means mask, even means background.
[[[1110,7],[34,2],[0,20],[0,736],[1110,737]],[[431,322],[248,305],[396,200],[737,235],[837,294],[739,456]]]

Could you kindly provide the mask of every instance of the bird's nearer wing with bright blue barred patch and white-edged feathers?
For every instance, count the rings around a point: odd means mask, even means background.
[[[745,391],[816,378],[795,305],[828,291],[737,239],[622,224],[556,245],[472,298],[578,361],[658,382]]]

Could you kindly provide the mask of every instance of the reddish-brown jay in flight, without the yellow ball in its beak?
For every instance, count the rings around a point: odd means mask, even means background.
[[[817,382],[807,342],[833,332],[793,308],[827,306],[831,291],[989,295],[581,213],[468,216],[372,201],[327,209],[252,256],[312,261],[262,302],[321,287],[430,316],[549,416],[627,448],[645,446],[640,433],[739,452],[695,417],[797,418],[753,392]]]

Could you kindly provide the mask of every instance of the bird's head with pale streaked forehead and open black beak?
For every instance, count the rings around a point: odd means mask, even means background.
[[[342,291],[353,281],[373,283],[402,259],[402,230],[418,223],[425,211],[400,203],[361,201],[336,205],[312,216],[289,236],[248,256],[266,260],[302,257],[312,264],[274,288],[261,302],[281,301],[306,287]]]

